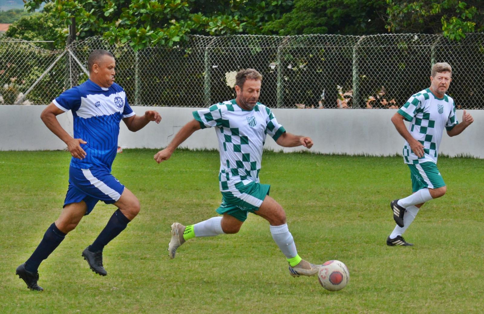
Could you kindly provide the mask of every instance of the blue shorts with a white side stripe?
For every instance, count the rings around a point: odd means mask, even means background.
[[[112,204],[118,201],[124,185],[106,169],[93,167],[77,169],[69,167],[69,188],[65,195],[64,207],[71,203],[86,202],[88,215],[98,201]]]

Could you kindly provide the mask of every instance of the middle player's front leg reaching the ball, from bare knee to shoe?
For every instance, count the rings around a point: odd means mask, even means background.
[[[286,255],[291,276],[314,276],[318,273],[319,265],[303,260],[297,253],[294,239],[287,228],[286,212],[279,203],[267,195],[255,213],[269,222],[272,239],[274,239],[282,253]]]

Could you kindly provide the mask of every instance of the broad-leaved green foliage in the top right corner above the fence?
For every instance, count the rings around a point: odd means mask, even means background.
[[[443,33],[460,40],[466,33],[484,31],[484,1],[387,0],[387,28],[392,32]]]

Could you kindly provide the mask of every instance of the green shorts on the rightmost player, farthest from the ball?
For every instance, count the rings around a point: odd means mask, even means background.
[[[408,164],[412,179],[412,192],[423,188],[437,189],[445,185],[437,164],[426,162],[422,164]]]

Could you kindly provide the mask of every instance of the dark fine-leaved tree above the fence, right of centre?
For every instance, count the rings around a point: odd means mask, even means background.
[[[279,35],[365,35],[385,31],[385,0],[294,0],[294,8],[268,22],[265,30]]]

